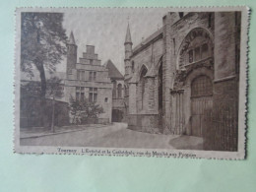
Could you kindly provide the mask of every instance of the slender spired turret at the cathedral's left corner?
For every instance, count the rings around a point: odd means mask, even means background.
[[[125,78],[127,78],[132,71],[131,66],[131,55],[132,55],[132,38],[131,38],[131,32],[129,23],[127,26],[126,36],[125,36],[125,42],[124,42],[124,50],[125,50],[125,57],[124,57],[124,66],[125,66]]]

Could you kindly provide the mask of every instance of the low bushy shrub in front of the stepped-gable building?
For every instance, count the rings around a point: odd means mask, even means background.
[[[88,98],[74,99],[70,97],[70,112],[73,116],[73,124],[82,124],[90,118],[98,118],[103,113],[103,108],[96,102],[90,101]]]

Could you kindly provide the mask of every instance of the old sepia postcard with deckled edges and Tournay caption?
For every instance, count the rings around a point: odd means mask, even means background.
[[[18,8],[14,151],[243,160],[248,15]]]

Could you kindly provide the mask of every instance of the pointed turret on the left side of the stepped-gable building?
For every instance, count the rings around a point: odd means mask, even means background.
[[[67,75],[72,74],[72,69],[76,69],[77,49],[74,34],[71,32],[67,43]]]

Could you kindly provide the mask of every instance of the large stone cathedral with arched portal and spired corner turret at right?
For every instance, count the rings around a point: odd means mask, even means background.
[[[163,27],[134,48],[128,25],[129,128],[208,137],[210,150],[236,150],[240,21],[239,12],[167,13]]]

